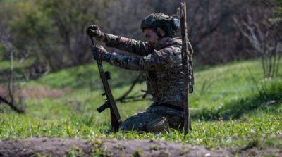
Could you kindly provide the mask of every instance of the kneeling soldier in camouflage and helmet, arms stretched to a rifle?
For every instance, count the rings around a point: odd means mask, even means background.
[[[121,130],[164,132],[168,128],[183,127],[183,82],[181,39],[173,38],[179,20],[163,13],[154,13],[142,21],[141,29],[147,42],[117,37],[99,30],[97,25],[87,28],[87,34],[105,42],[106,46],[128,51],[136,56],[109,53],[102,46],[93,46],[95,59],[128,70],[145,71],[147,92],[154,103],[147,111],[128,118]]]

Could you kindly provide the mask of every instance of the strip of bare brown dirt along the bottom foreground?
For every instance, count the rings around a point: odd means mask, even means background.
[[[279,149],[209,150],[149,140],[25,139],[0,141],[0,156],[282,156]]]

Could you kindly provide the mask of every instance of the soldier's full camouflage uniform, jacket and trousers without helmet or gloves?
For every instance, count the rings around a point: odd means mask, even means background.
[[[121,125],[122,130],[164,132],[183,127],[183,70],[181,39],[166,37],[154,48],[147,42],[105,34],[106,46],[137,56],[112,54],[109,63],[128,70],[146,72],[147,94],[154,104]]]

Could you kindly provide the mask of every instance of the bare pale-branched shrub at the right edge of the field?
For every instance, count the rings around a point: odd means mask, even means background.
[[[264,15],[264,17],[255,19],[255,12]],[[281,42],[281,30],[278,23],[271,23],[269,17],[271,12],[264,13],[262,9],[250,11],[247,9],[244,15],[233,17],[240,33],[245,37],[255,49],[262,61],[262,70],[264,77],[275,77],[278,74],[280,57],[277,49],[278,43]]]

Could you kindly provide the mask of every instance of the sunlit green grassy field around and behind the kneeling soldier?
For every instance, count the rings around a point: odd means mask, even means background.
[[[282,65],[280,65],[282,69]],[[250,70],[248,70],[248,68]],[[130,87],[125,70],[108,67],[117,98]],[[255,81],[253,80],[255,77]],[[163,139],[209,148],[282,146],[282,79],[265,80],[259,61],[243,61],[196,70],[195,92],[190,95],[192,132],[146,134],[109,132],[109,111],[97,113],[104,102],[97,67],[85,65],[51,73],[22,84],[27,90],[25,115],[1,105],[0,139],[80,137],[83,139]],[[34,89],[34,90],[33,90]],[[138,84],[133,93],[145,89]],[[145,110],[145,101],[118,103],[123,120]]]

